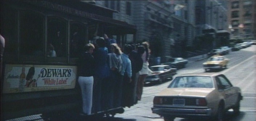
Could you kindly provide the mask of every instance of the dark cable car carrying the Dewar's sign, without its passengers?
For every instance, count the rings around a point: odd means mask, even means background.
[[[78,54],[95,36],[114,35],[122,46],[136,27],[112,19],[112,9],[87,2],[1,0],[5,38],[1,74],[1,121],[50,115],[82,107]],[[134,39],[135,40],[135,39]],[[48,50],[54,49],[54,57]],[[98,112],[122,113],[122,107]]]

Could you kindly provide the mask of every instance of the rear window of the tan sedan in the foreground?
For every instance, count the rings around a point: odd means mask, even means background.
[[[168,88],[213,88],[213,84],[209,76],[179,76]]]

